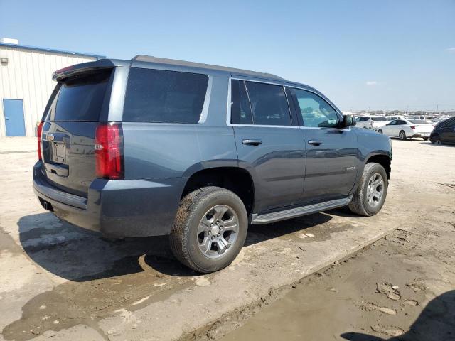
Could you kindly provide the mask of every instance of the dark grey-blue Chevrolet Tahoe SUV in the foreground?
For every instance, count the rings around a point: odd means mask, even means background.
[[[385,202],[390,139],[274,75],[139,55],[58,70],[33,186],[108,237],[169,234],[183,264],[228,266],[249,224]]]

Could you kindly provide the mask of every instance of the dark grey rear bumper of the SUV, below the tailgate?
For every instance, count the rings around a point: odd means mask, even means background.
[[[33,167],[33,189],[41,205],[61,220],[109,237],[159,236],[171,231],[180,201],[180,178],[95,179],[87,197],[79,197],[50,185],[41,169],[38,161]]]

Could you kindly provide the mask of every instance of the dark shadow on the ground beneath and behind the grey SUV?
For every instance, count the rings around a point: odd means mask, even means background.
[[[331,218],[316,213],[275,224],[250,225],[245,246],[324,224]],[[167,236],[112,241],[48,212],[21,217],[18,230],[21,246],[30,259],[70,281],[93,281],[144,271],[156,278],[199,275],[173,257]]]

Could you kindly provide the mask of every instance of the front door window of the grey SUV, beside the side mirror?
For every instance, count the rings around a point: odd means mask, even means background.
[[[333,128],[338,126],[338,114],[325,100],[313,92],[295,89],[305,126]],[[360,121],[364,121],[360,117]]]

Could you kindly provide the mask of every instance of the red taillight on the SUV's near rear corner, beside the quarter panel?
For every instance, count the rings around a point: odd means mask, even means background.
[[[124,178],[122,124],[98,124],[95,133],[95,156],[98,178]]]

